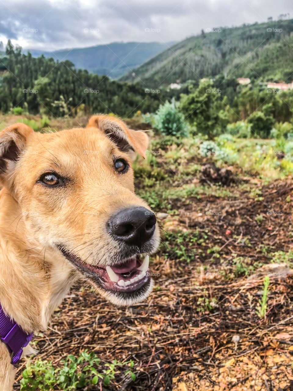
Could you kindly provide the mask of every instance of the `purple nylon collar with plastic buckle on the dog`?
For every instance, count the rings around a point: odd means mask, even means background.
[[[0,305],[0,340],[7,345],[11,353],[11,364],[20,361],[22,348],[29,344],[33,335],[34,333],[25,333],[14,320],[5,315]]]

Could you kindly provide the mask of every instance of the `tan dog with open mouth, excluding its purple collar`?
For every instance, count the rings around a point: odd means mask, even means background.
[[[0,304],[26,333],[46,328],[77,276],[116,305],[152,290],[148,255],[159,230],[131,168],[147,144],[145,133],[103,115],[58,133],[24,124],[0,133]],[[0,390],[11,391],[13,378],[0,341]]]

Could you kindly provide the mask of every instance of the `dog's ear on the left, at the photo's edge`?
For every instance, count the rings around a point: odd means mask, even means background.
[[[0,184],[9,187],[9,179],[20,158],[28,136],[34,131],[25,124],[15,124],[0,132]]]

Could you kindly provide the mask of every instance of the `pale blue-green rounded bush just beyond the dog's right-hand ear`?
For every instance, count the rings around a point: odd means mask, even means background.
[[[175,99],[160,105],[154,115],[153,126],[163,135],[178,137],[186,137],[188,135],[183,115],[179,112]]]

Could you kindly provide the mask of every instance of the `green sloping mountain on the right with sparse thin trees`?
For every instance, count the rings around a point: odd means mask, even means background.
[[[214,77],[292,81],[293,19],[210,29],[157,54],[121,77],[150,88]]]

